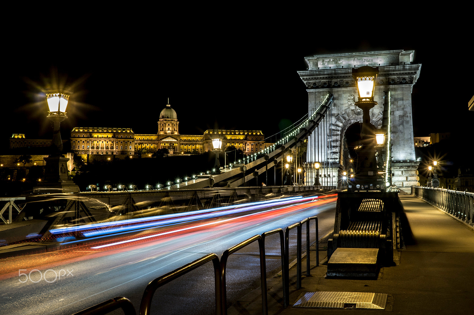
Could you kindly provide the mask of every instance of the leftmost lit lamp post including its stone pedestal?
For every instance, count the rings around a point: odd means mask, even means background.
[[[47,118],[53,122],[52,152],[45,157],[45,180],[34,187],[36,193],[77,193],[79,187],[69,179],[67,162],[69,158],[62,155],[63,141],[61,139],[60,124],[67,119],[66,107],[72,92],[67,90],[46,90],[46,101],[49,111]]]

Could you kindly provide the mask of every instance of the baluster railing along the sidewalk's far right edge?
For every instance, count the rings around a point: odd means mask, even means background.
[[[474,224],[474,193],[411,186],[411,194],[446,211],[462,222]]]

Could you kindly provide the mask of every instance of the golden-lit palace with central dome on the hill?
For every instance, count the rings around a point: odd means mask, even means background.
[[[138,134],[130,128],[75,127],[71,149],[76,155],[132,156],[166,148],[170,154],[202,153],[212,150],[213,138],[222,139],[222,148],[234,146],[250,155],[272,145],[265,143],[260,130],[206,130],[203,135],[180,135],[176,111],[168,103],[161,111],[156,134]],[[117,157],[117,156],[116,156]]]

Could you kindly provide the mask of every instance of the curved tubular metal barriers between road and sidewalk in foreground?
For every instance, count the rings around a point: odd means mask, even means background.
[[[226,288],[226,264],[228,256],[235,253],[237,250],[244,248],[245,246],[258,241],[259,252],[260,252],[260,278],[261,278],[261,289],[262,289],[262,314],[268,314],[268,305],[267,305],[267,292],[266,292],[266,262],[265,262],[265,238],[279,233],[280,234],[280,248],[282,253],[282,278],[283,278],[283,306],[288,307],[289,297],[290,297],[290,281],[289,281],[289,231],[293,228],[297,228],[297,274],[296,281],[297,287],[301,288],[301,226],[306,223],[306,275],[310,275],[310,220],[315,220],[315,230],[316,230],[316,266],[319,266],[319,232],[318,232],[318,217],[306,218],[301,222],[294,223],[288,226],[285,229],[285,235],[283,237],[282,229],[275,229],[272,231],[264,232],[262,235],[255,235],[246,241],[243,241],[228,250],[225,250],[222,253],[222,256],[219,260],[219,257],[210,253],[196,259],[191,263],[184,265],[178,269],[174,269],[167,274],[155,278],[153,281],[148,283],[143,293],[141,302],[140,302],[140,311],[139,315],[149,315],[151,314],[151,301],[155,294],[155,291],[163,286],[166,283],[173,281],[176,278],[181,277],[182,275],[194,270],[209,261],[213,262],[214,266],[214,283],[216,290],[216,314],[217,315],[227,315],[227,288]],[[133,304],[125,297],[114,297],[110,300],[104,301],[95,306],[86,308],[74,315],[95,315],[95,314],[107,314],[118,308],[122,308],[125,315],[136,315],[135,308]]]

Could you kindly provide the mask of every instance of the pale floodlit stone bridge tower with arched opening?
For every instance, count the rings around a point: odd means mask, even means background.
[[[375,83],[374,101],[378,105],[370,110],[370,117],[377,129],[382,124],[387,126],[392,148],[389,170],[394,174],[392,184],[406,192],[410,191],[411,185],[419,185],[419,162],[415,161],[413,144],[411,92],[419,77],[421,64],[412,64],[413,55],[413,50],[387,50],[305,57],[308,70],[298,71],[298,74],[307,87],[309,114],[315,111],[318,102],[328,93],[334,95],[332,110],[325,118],[328,121],[324,126],[328,130],[319,139],[314,135],[317,148],[321,149],[319,152],[309,149],[308,162],[330,162],[332,171],[339,174],[338,178],[342,177],[340,173],[347,167],[343,165],[344,134],[350,125],[362,122],[362,111],[354,105],[357,88],[352,69],[363,65],[377,66],[379,76]]]

